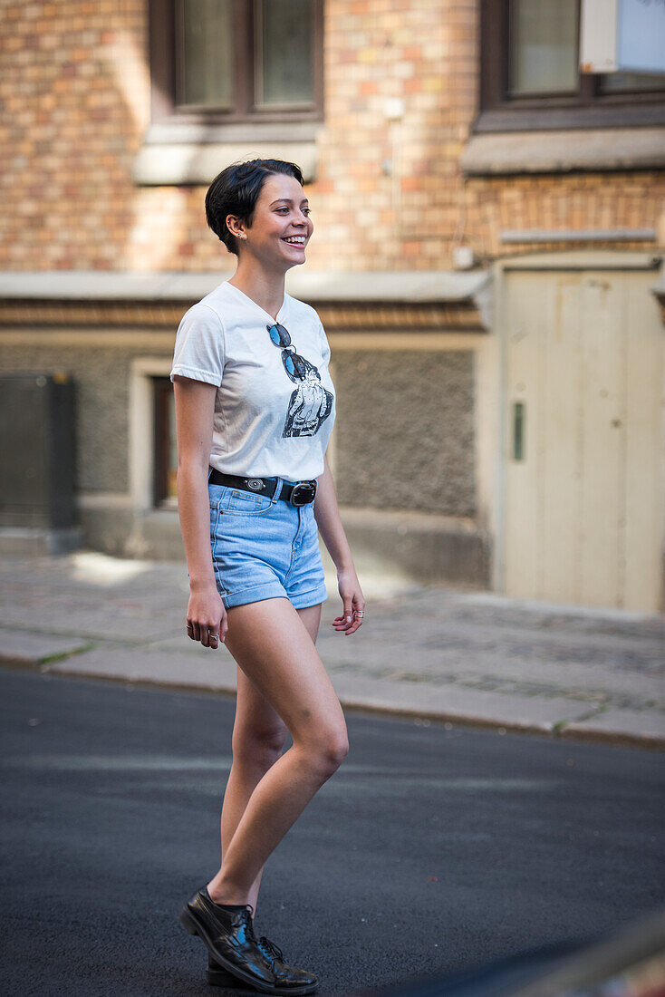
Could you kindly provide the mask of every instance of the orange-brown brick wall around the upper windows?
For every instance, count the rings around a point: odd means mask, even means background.
[[[501,246],[502,228],[659,223],[663,173],[463,180],[477,8],[326,0],[310,268],[447,268],[456,234],[485,258],[518,248]],[[130,177],[150,123],[146,0],[5,2],[3,13],[0,268],[228,266],[205,226],[204,187]],[[404,101],[401,122],[387,121],[387,98]]]

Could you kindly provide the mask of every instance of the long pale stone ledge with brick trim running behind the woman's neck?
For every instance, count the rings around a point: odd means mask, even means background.
[[[0,325],[172,328],[228,276],[4,271]],[[492,281],[485,270],[303,272],[288,275],[286,289],[314,305],[329,330],[482,332],[491,325]]]

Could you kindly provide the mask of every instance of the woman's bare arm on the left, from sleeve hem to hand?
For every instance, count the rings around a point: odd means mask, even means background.
[[[189,571],[187,633],[204,647],[217,647],[228,629],[212,568],[207,475],[216,388],[173,375],[177,438],[177,511]]]

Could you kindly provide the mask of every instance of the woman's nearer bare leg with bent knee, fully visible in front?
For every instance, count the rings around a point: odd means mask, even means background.
[[[293,746],[255,786],[208,883],[218,903],[249,903],[267,859],[348,751],[339,700],[302,617],[288,599],[228,610],[226,645],[286,724]]]

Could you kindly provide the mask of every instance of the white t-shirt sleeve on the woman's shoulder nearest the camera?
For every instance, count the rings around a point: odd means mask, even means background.
[[[203,381],[206,384],[221,384],[224,369],[224,331],[217,313],[198,302],[184,313],[177,327],[173,349],[173,375]]]

